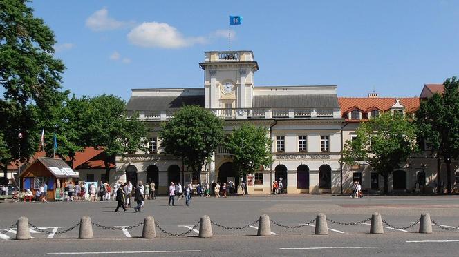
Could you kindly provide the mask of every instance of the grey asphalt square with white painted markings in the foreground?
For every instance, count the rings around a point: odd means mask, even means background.
[[[352,199],[344,196],[236,196],[229,198],[194,197],[190,207],[176,201],[169,207],[167,198],[146,201],[141,213],[114,212],[115,202],[97,203],[0,203],[0,249],[2,256],[113,256],[152,254],[157,256],[458,256],[459,229],[448,232],[433,225],[433,234],[418,234],[420,214],[444,228],[459,225],[458,196],[367,196]],[[281,225],[308,223],[322,212],[328,222],[328,236],[314,235],[314,223],[296,229],[271,224],[272,236],[256,236],[257,225],[243,229],[212,226],[213,238],[198,238],[196,227],[184,237],[176,238],[156,229],[158,238],[139,238],[142,226],[133,229],[102,229],[93,227],[95,238],[79,240],[78,228],[60,232],[84,215],[94,223],[107,227],[123,227],[141,223],[147,215],[171,234],[187,232],[200,216],[227,227],[251,224],[261,214],[268,214]],[[370,222],[357,223],[380,212],[388,225],[384,234],[368,234]],[[15,230],[6,231],[19,216],[48,233],[31,229],[32,240],[17,241]],[[413,225],[413,227],[409,227]],[[398,228],[392,228],[398,227]],[[400,229],[409,227],[406,229]],[[5,255],[3,255],[5,254]]]

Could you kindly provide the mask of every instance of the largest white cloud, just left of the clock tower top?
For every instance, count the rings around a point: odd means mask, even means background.
[[[207,42],[205,37],[184,37],[171,25],[158,22],[144,22],[136,26],[127,38],[133,45],[144,48],[185,48]]]

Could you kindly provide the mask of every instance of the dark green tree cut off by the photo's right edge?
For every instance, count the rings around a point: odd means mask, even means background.
[[[442,95],[433,94],[422,101],[416,112],[420,136],[425,138],[438,158],[447,165],[447,192],[451,193],[451,161],[459,156],[459,81],[456,77],[443,83]],[[440,167],[438,167],[440,192]]]

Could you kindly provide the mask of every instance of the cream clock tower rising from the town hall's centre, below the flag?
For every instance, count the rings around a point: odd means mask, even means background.
[[[251,108],[254,72],[259,67],[252,51],[205,52],[205,107]]]

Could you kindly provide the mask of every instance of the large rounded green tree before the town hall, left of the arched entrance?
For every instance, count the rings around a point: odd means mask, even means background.
[[[159,137],[165,154],[182,158],[198,175],[223,140],[223,121],[203,107],[189,105],[161,124]]]

